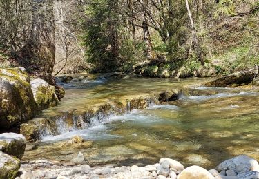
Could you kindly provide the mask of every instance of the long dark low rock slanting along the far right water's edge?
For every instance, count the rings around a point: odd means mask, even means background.
[[[258,74],[255,70],[246,70],[222,76],[221,78],[205,83],[204,85],[206,87],[227,87],[233,84],[248,84],[251,83],[256,76],[258,76]]]

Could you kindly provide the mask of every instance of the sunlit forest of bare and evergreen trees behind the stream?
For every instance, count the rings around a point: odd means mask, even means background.
[[[0,4],[1,60],[14,59],[46,78],[132,72],[145,61],[171,69],[202,65],[222,74],[258,64],[256,0]]]

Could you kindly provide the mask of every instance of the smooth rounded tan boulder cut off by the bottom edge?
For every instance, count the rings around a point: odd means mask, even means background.
[[[214,176],[206,169],[199,166],[191,166],[184,169],[179,175],[178,179],[213,179]]]

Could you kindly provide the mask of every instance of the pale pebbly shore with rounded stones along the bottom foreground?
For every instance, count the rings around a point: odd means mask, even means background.
[[[80,162],[76,162],[75,160]],[[84,164],[84,155],[79,153],[72,164],[61,164],[57,161],[38,160],[26,162],[21,165],[21,176],[17,179],[25,178],[136,178],[136,179],[250,179],[259,178],[259,165],[256,160],[249,156],[236,156],[226,160],[215,169],[204,169],[199,166],[184,166],[171,158],[161,158],[153,165],[145,167],[122,166],[113,167],[112,165],[104,167],[90,167]]]

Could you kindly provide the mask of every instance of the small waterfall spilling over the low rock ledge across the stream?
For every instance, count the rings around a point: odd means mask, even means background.
[[[160,94],[150,94],[127,100],[125,105],[120,102],[110,101],[100,105],[97,110],[94,108],[86,109],[85,112],[80,112],[81,114],[74,111],[50,118],[38,118],[33,123],[28,122],[30,125],[40,126],[35,127],[37,128],[35,129],[37,135],[31,134],[31,136],[41,139],[44,136],[56,136],[70,131],[88,129],[110,120],[112,116],[122,115],[126,112],[131,112],[133,109],[145,109],[164,102],[159,101],[159,98]]]

